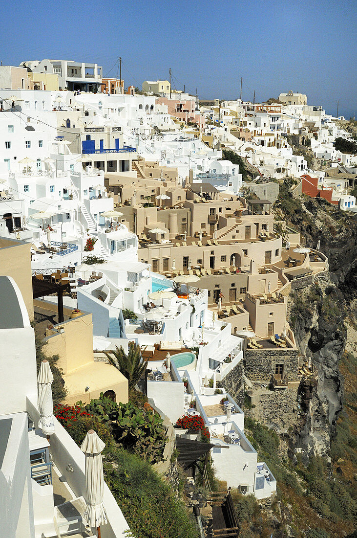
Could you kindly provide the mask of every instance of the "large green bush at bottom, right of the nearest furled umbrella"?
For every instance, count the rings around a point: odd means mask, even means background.
[[[103,457],[105,480],[134,538],[198,538],[194,516],[174,497],[152,467],[125,450],[110,448]]]

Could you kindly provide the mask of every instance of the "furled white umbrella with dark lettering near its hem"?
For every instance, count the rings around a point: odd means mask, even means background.
[[[38,427],[45,435],[52,435],[55,431],[52,402],[53,375],[48,360],[42,360],[37,377],[37,402],[40,412]]]

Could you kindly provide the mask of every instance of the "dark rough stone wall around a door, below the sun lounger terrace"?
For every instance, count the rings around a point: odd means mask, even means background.
[[[244,355],[244,375],[252,381],[269,383],[275,373],[275,364],[284,365],[288,381],[297,381],[297,349],[247,349]]]

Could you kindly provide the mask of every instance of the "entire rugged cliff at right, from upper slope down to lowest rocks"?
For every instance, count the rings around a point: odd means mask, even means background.
[[[289,215],[289,221],[300,231],[302,243],[316,248],[320,240],[330,267],[330,283],[295,294],[292,305],[296,343],[317,372],[316,380],[304,379],[298,389],[304,414],[290,441],[291,448],[302,449],[308,458],[329,454],[343,409],[338,363],[346,344],[346,309],[357,294],[357,221],[324,200],[304,197],[300,202],[301,209]]]

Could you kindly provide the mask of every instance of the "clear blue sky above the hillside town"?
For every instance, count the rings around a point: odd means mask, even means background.
[[[199,98],[300,91],[349,118],[356,107],[355,0],[45,0],[2,6],[3,65],[122,57],[125,85],[165,79]],[[116,76],[116,67],[111,71]]]

